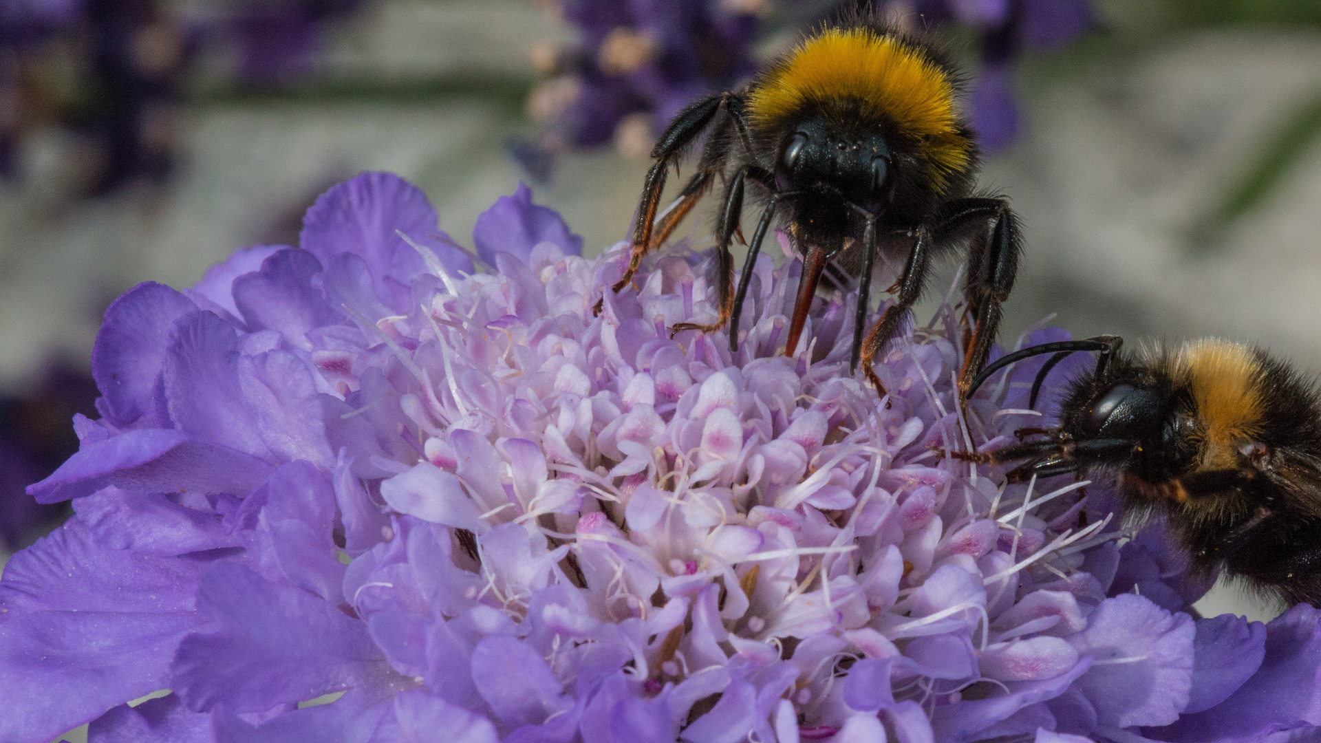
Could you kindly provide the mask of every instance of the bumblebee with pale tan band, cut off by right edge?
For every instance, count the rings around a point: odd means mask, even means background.
[[[1313,382],[1258,348],[1207,338],[1122,354],[1122,340],[1044,344],[1005,356],[974,379],[1028,356],[1054,362],[1099,350],[1059,405],[1054,428],[963,455],[1021,461],[1032,475],[1111,472],[1129,517],[1164,513],[1194,568],[1219,567],[1289,604],[1321,603],[1321,399]]]

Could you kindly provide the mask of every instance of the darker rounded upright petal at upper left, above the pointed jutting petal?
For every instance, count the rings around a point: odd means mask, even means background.
[[[155,282],[137,284],[106,308],[91,374],[112,423],[128,426],[155,411],[152,390],[165,364],[169,331],[196,309],[186,296]]]

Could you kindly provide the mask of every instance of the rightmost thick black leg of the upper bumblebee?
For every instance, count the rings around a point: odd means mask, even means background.
[[[937,239],[956,235],[993,219],[989,239],[978,229],[968,249],[964,297],[972,312],[974,327],[967,338],[963,365],[959,369],[959,399],[966,401],[972,379],[985,364],[1000,329],[1000,304],[1009,299],[1018,274],[1022,238],[1018,219],[1003,198],[960,198],[947,205],[945,219],[937,227]],[[943,239],[942,239],[943,242]]]

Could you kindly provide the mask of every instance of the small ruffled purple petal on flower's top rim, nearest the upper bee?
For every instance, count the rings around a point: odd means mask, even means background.
[[[583,238],[569,231],[557,212],[532,204],[532,189],[523,182],[513,196],[497,198],[473,227],[477,254],[490,266],[497,253],[531,263],[532,249],[540,242],[553,243],[564,255],[583,255]]]

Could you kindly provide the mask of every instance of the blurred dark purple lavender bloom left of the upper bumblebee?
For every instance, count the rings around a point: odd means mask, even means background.
[[[701,95],[750,77],[752,42],[765,0],[563,0],[577,32],[568,48],[542,45],[532,63],[546,79],[528,97],[543,131],[517,141],[514,157],[546,178],[569,148],[614,141],[645,157],[660,128]]]

